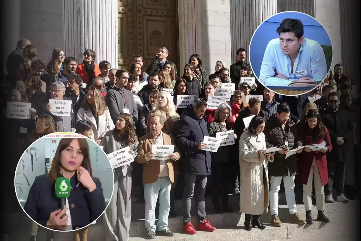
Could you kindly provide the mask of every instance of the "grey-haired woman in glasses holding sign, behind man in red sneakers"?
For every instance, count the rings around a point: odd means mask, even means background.
[[[231,166],[232,149],[234,139],[237,135],[234,134],[230,125],[231,107],[227,103],[222,103],[215,115],[214,121],[208,125],[208,133],[210,137],[219,137],[225,139],[218,148],[217,152],[212,152],[212,199],[214,205],[214,212],[217,214],[222,212],[232,212],[228,206],[229,184],[231,180]],[[230,132],[231,131],[231,132]],[[233,135],[229,137],[229,135]],[[233,142],[229,141],[233,139]],[[219,197],[222,197],[222,206],[219,203]]]

